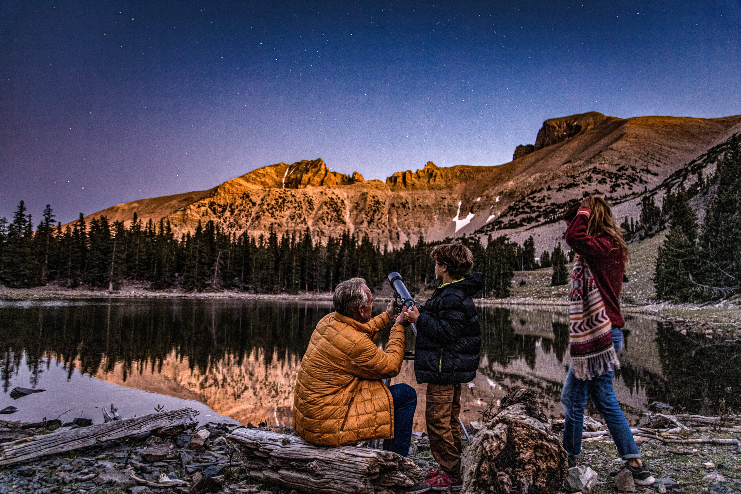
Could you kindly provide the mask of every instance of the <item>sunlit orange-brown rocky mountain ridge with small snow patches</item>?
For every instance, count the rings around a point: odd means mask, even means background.
[[[534,234],[540,250],[554,240],[550,233],[539,240],[532,228],[551,228],[551,220],[584,193],[635,202],[643,190],[740,131],[741,116],[618,119],[591,112],[545,121],[533,152],[499,166],[428,161],[382,182],[332,172],[321,159],[278,163],[210,190],[119,204],[90,217],[130,221],[136,211],[144,221],[170,221],[176,233],[210,220],[253,236],[309,228],[317,241],[350,231],[391,247],[420,235],[506,234],[522,241],[519,236]],[[620,214],[638,218],[630,208]]]

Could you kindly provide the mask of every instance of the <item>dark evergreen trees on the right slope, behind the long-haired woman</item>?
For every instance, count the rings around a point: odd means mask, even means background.
[[[733,139],[714,179],[701,181],[692,192],[680,187],[665,197],[669,231],[659,247],[654,278],[659,299],[707,301],[741,291],[741,138]],[[714,181],[717,193],[698,227],[688,200]]]

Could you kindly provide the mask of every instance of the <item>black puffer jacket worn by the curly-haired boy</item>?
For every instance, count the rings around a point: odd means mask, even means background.
[[[419,309],[414,373],[419,384],[471,382],[479,368],[481,329],[473,296],[481,273],[438,288]]]

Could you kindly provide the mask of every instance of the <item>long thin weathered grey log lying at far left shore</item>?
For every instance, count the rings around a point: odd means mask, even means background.
[[[195,421],[196,410],[181,408],[171,412],[150,413],[137,418],[91,425],[79,429],[57,430],[46,435],[34,435],[0,444],[0,465],[29,460],[44,455],[63,453],[93,444],[120,439],[130,435],[146,433],[165,427],[187,425]]]

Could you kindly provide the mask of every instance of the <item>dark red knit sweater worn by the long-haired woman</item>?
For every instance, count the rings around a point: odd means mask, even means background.
[[[591,268],[599,293],[605,302],[605,312],[614,326],[623,327],[625,321],[620,314],[620,290],[622,275],[625,273],[625,261],[617,243],[608,236],[593,237],[587,235],[591,210],[579,207],[576,218],[571,220],[566,230],[566,243],[579,256],[582,256]]]

